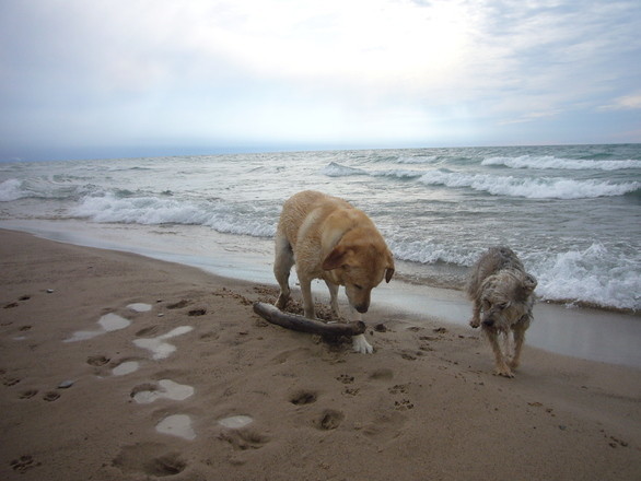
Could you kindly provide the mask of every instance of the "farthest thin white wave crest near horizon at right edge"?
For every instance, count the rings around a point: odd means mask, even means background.
[[[490,157],[483,160],[481,165],[504,165],[505,167],[510,168],[621,171],[627,168],[641,168],[641,161],[586,161],[575,159],[559,159],[552,155],[522,155],[518,157]]]

